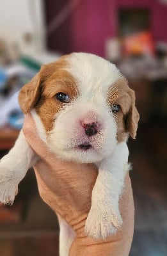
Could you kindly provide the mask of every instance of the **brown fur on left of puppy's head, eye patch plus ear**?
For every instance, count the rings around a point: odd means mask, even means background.
[[[67,93],[70,99],[77,95],[76,80],[65,70],[66,67],[67,56],[43,65],[40,72],[19,93],[19,104],[23,113],[35,108],[46,131],[51,131],[56,113],[66,105],[56,99],[56,93]]]

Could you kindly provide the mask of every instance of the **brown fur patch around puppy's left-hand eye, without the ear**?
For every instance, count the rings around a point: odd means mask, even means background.
[[[52,130],[55,116],[60,109],[65,108],[65,103],[56,99],[56,93],[63,92],[75,99],[77,96],[76,80],[66,70],[58,70],[49,77],[44,84],[42,95],[35,107],[36,113],[40,116],[46,131]]]

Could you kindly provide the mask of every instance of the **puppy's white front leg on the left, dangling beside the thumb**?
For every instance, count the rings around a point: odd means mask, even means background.
[[[13,204],[19,182],[37,160],[20,131],[19,138],[10,152],[0,160],[0,202]]]

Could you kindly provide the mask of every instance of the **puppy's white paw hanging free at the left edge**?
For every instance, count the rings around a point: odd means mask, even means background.
[[[15,177],[12,177],[12,173],[9,171],[4,172],[4,170],[1,170],[0,166],[0,202],[2,204],[12,205],[17,193],[17,180]]]

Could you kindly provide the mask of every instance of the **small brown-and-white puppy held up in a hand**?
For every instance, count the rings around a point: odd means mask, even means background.
[[[98,56],[72,53],[43,65],[20,90],[19,104],[24,114],[31,111],[40,138],[56,156],[97,165],[85,230],[95,239],[115,234],[122,225],[118,202],[129,170],[127,138],[135,138],[139,120],[134,91],[125,77]],[[20,131],[0,162],[0,202],[13,203],[20,180],[36,161]],[[66,237],[69,229],[60,220],[62,256],[68,255],[75,236],[71,230]]]

